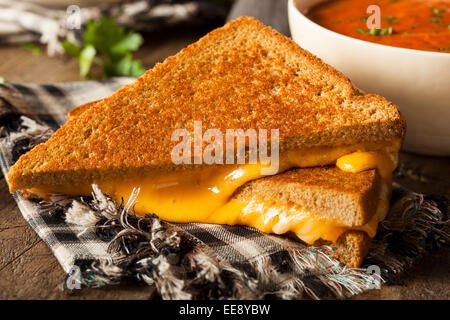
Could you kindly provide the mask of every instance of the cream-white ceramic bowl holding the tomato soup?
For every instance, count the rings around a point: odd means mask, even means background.
[[[330,31],[305,14],[324,0],[289,0],[292,38],[356,87],[397,104],[406,151],[450,156],[450,54],[375,44]]]

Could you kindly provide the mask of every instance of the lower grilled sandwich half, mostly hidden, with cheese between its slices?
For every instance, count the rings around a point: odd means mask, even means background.
[[[387,214],[389,197],[376,170],[294,169],[246,183],[215,219],[226,215],[229,224],[330,245],[342,262],[359,267]]]

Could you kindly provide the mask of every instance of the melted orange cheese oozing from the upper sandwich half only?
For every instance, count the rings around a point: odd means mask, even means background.
[[[279,172],[295,167],[312,167],[336,163],[345,171],[361,169],[357,162],[365,160],[364,170],[379,168],[388,180],[395,167],[387,152],[352,152],[355,147],[290,152],[280,156]],[[358,149],[356,149],[358,150]],[[134,210],[137,214],[155,213],[171,222],[214,222],[217,210],[225,206],[233,193],[248,181],[264,177],[263,165],[222,165],[186,170],[164,175],[135,177],[121,182],[99,183],[100,188],[117,201],[128,201],[133,188],[140,188]],[[350,168],[350,169],[349,169]]]

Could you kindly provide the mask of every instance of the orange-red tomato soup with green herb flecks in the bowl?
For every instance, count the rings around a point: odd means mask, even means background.
[[[368,28],[380,8],[379,28]],[[332,0],[312,8],[309,18],[343,35],[388,46],[450,53],[450,0]]]

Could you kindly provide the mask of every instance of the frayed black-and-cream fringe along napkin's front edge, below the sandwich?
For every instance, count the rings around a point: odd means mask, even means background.
[[[66,211],[66,222],[94,228],[100,238],[112,238],[111,259],[95,261],[82,270],[82,282],[90,287],[132,278],[154,285],[163,299],[299,299],[305,295],[320,299],[326,292],[350,297],[383,281],[365,269],[340,263],[328,246],[288,248],[288,258],[280,264],[259,256],[248,261],[247,269],[253,272],[246,272],[243,266],[220,260],[176,224],[162,222],[156,215],[134,215],[138,189],[125,205],[116,205],[97,185],[93,190],[91,201],[74,200]],[[289,265],[290,271],[281,270],[282,264]]]

